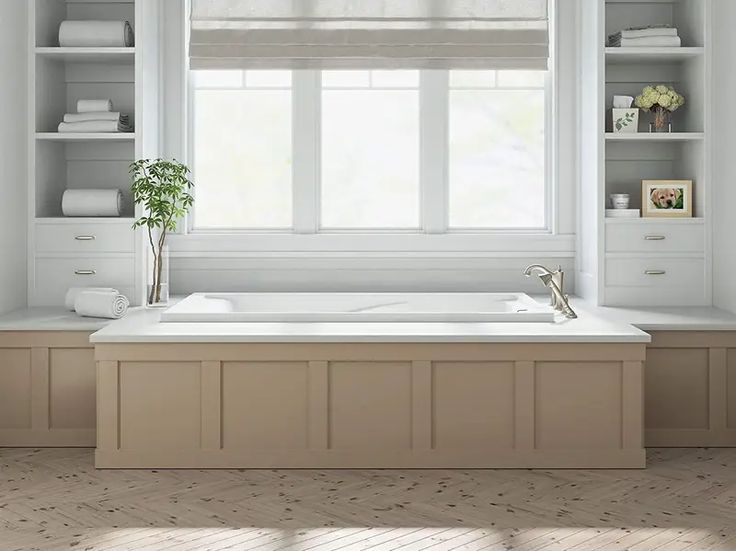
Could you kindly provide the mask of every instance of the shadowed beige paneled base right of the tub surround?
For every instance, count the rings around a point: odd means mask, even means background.
[[[655,332],[645,371],[647,446],[736,446],[736,332]]]

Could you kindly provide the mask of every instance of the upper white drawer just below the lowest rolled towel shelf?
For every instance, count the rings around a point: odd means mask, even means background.
[[[36,224],[38,253],[132,253],[135,237],[129,223]]]

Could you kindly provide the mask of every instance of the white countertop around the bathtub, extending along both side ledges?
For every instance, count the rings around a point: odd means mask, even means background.
[[[545,300],[544,297],[537,297]],[[646,331],[736,331],[717,308],[613,308],[571,301],[579,318],[550,323],[159,323],[134,308],[117,321],[33,308],[0,317],[0,331],[90,331],[114,342],[649,342]]]

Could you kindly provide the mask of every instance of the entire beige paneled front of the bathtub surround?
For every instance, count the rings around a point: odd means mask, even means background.
[[[644,351],[98,345],[96,465],[639,468]]]

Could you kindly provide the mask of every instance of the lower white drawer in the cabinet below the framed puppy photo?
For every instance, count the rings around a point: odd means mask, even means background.
[[[705,284],[702,258],[608,258],[606,285],[623,287],[699,288]]]

